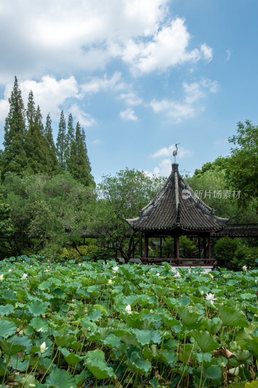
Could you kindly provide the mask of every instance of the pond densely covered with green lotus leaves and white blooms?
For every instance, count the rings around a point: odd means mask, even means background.
[[[258,387],[258,269],[0,262],[0,387]]]

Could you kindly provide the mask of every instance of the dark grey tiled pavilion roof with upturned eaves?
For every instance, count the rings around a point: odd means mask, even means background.
[[[187,195],[184,195],[187,194]],[[172,173],[153,200],[139,212],[139,217],[126,220],[135,230],[221,230],[228,218],[214,215],[214,210],[200,200],[172,164]]]

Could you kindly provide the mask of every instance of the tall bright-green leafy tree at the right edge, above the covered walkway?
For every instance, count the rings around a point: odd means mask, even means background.
[[[239,206],[253,200],[258,212],[258,126],[246,120],[237,123],[237,134],[228,138],[235,148],[226,166],[226,179],[233,190],[241,191]]]

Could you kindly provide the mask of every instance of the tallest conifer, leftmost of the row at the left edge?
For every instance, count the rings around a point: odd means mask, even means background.
[[[0,161],[2,178],[7,171],[21,174],[27,165],[24,149],[26,115],[16,77],[9,104],[10,110],[4,125],[4,150]]]

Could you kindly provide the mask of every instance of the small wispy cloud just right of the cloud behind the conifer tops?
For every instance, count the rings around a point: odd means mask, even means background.
[[[107,78],[107,75],[105,74],[103,78],[99,77],[93,77],[91,78],[91,81],[87,83],[83,83],[81,85],[81,89],[85,93],[89,94],[95,94],[98,93],[100,90],[120,90],[124,89],[125,84],[121,81],[121,72],[116,71],[111,78]]]

